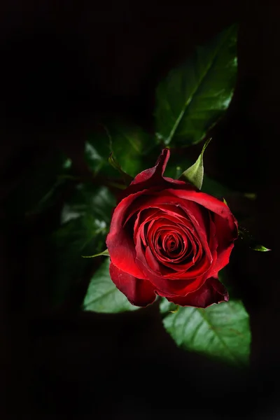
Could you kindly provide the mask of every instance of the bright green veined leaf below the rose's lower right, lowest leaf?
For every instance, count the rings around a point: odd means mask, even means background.
[[[169,302],[160,311],[167,314]],[[176,344],[239,367],[248,365],[251,332],[249,318],[240,300],[213,304],[207,309],[180,307],[163,319]]]

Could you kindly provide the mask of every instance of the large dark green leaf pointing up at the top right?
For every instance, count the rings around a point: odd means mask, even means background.
[[[237,26],[218,34],[162,80],[155,125],[165,145],[202,140],[228,109],[237,76]]]

